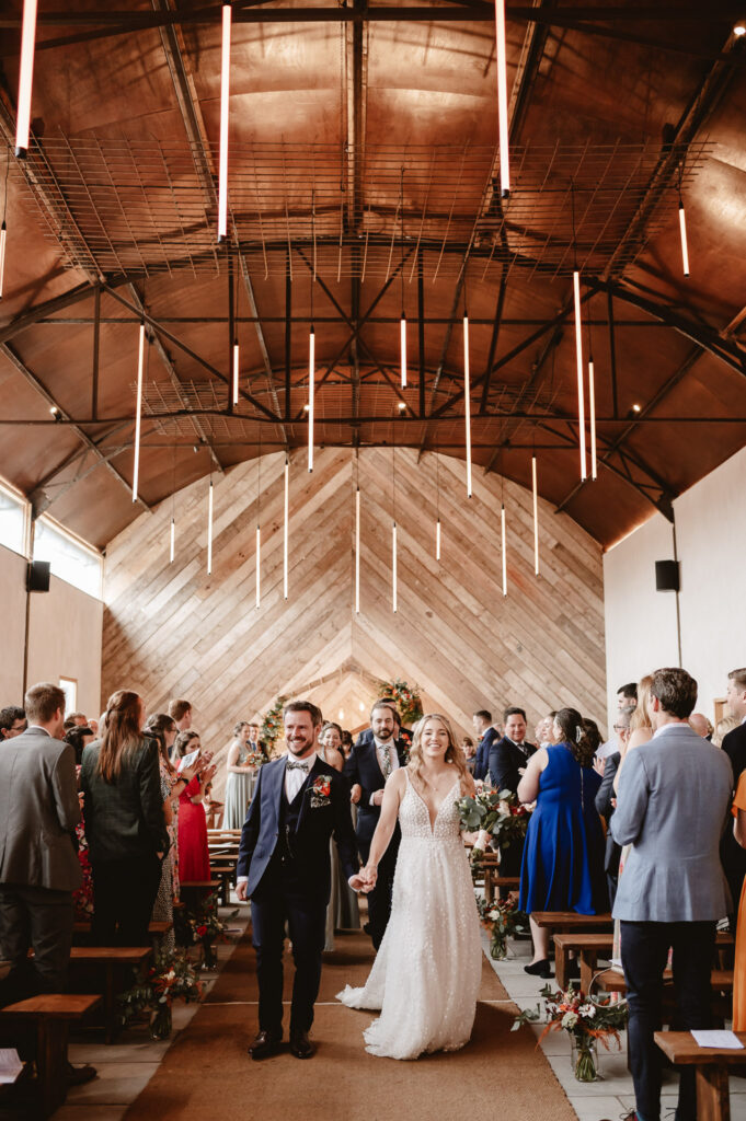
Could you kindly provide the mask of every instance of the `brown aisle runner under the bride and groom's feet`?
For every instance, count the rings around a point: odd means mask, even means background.
[[[433,1121],[473,1117],[574,1121],[575,1114],[528,1029],[510,1032],[515,1006],[487,961],[471,1043],[416,1062],[375,1058],[363,1048],[370,1012],[334,1001],[346,984],[362,985],[372,947],[363,934],[338,935],[324,955],[316,1004],[314,1058],[289,1051],[254,1063],[257,1030],[255,955],[247,932],[210,998],[166,1054],[128,1110],[130,1121],[215,1118],[219,1121]],[[292,960],[285,960],[289,999]],[[286,1008],[285,1030],[289,1021]]]

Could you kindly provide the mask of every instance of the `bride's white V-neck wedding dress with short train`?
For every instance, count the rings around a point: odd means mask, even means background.
[[[338,999],[380,1009],[366,1050],[388,1058],[457,1050],[469,1041],[481,979],[479,917],[459,833],[458,780],[435,818],[407,775],[392,917],[363,989]]]

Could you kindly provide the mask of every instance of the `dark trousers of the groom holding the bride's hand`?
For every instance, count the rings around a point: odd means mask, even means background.
[[[283,952],[285,924],[293,943],[295,978],[291,1003],[291,1035],[310,1031],[321,983],[321,954],[326,928],[326,902],[308,893],[292,862],[273,859],[251,896],[252,943],[257,952],[259,1030],[283,1031]]]

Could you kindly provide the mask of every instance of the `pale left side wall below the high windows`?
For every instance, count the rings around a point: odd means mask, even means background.
[[[0,707],[22,704],[26,634],[26,558],[0,546]],[[77,680],[77,707],[101,710],[103,603],[53,576],[48,592],[34,592],[29,617],[28,682]]]

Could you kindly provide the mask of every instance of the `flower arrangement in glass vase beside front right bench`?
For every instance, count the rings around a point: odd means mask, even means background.
[[[544,998],[544,1019],[546,1027],[538,1043],[547,1031],[567,1031],[572,1043],[572,1073],[578,1082],[596,1082],[598,1078],[597,1043],[601,1041],[609,1049],[609,1040],[614,1039],[620,1046],[619,1032],[627,1023],[627,1001],[616,1004],[610,997],[587,997],[573,985],[567,991],[544,985],[540,992]],[[542,1020],[541,1007],[523,1009],[515,1018],[513,1031],[523,1023]],[[536,1045],[538,1046],[538,1044]]]

